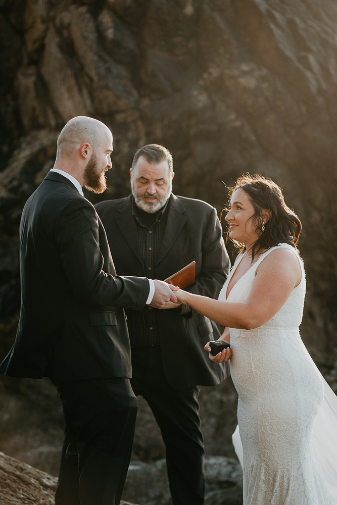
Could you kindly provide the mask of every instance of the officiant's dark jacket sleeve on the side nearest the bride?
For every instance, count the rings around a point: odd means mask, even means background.
[[[186,291],[209,298],[218,297],[230,268],[222,233],[220,220],[213,208],[202,240],[202,272]]]

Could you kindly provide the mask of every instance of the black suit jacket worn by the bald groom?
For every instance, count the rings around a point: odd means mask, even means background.
[[[102,223],[89,201],[50,172],[20,224],[21,313],[0,371],[58,380],[131,377],[123,307],[141,310],[143,277],[115,277]]]

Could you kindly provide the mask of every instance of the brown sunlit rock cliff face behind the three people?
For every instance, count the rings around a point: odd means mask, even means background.
[[[172,151],[174,191],[217,209],[226,198],[221,181],[231,184],[246,171],[283,188],[303,223],[301,333],[337,387],[336,31],[333,0],[1,3],[0,358],[18,322],[22,207],[52,167],[65,122],[89,115],[111,128],[115,147],[110,189],[88,194],[93,203],[128,194],[134,151],[150,142]],[[217,456],[233,456],[235,393],[227,382],[201,392],[206,447]],[[55,391],[24,380],[2,380],[1,387],[11,453],[50,461],[36,450],[42,440],[46,454],[59,450]],[[19,434],[22,419],[31,428],[28,441]],[[137,430],[134,457],[163,458],[142,402]]]

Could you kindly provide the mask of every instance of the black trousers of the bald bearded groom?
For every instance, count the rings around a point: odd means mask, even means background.
[[[66,423],[56,505],[118,505],[137,413],[129,379],[52,381]]]

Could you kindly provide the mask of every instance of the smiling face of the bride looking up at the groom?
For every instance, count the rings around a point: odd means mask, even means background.
[[[230,199],[230,211],[225,220],[229,224],[230,238],[245,243],[248,248],[259,238],[254,215],[255,209],[246,191],[236,189]]]

